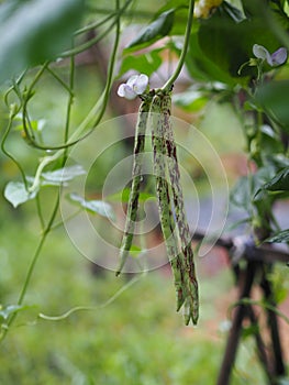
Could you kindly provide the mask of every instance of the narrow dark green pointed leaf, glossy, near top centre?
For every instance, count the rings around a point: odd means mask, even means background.
[[[127,51],[136,51],[144,48],[157,40],[167,36],[174,24],[175,9],[170,9],[148,24],[125,48]]]

